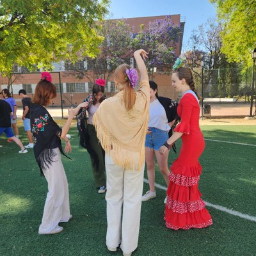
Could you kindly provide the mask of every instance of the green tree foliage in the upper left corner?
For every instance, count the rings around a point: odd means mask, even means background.
[[[108,13],[109,0],[0,1],[0,72],[13,65],[51,67],[52,61],[96,56],[102,36],[96,20]],[[79,54],[77,54],[79,52]]]

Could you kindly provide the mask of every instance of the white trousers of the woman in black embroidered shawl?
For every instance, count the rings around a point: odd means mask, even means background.
[[[59,222],[67,222],[70,217],[68,182],[59,148],[54,148],[56,156],[49,168],[43,170],[48,182],[48,193],[39,232],[52,232]]]

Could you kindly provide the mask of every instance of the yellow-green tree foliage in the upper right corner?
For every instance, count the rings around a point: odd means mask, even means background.
[[[217,6],[223,22],[221,51],[228,61],[252,65],[251,52],[256,47],[256,1],[255,0],[210,0]]]

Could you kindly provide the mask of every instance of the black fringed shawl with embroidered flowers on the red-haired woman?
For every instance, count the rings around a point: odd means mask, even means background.
[[[55,156],[54,148],[59,148],[61,154],[66,156],[61,147],[62,129],[43,106],[31,104],[30,110],[30,125],[35,143],[34,154],[41,174],[44,175],[43,169],[49,168]]]

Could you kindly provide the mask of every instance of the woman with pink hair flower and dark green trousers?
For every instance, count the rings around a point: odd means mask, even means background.
[[[92,86],[92,93],[90,93],[90,95],[84,99],[84,102],[87,104],[86,108],[83,108],[83,111],[77,115],[77,124],[81,129],[79,122],[81,122],[81,118],[86,115],[84,111],[88,111],[88,122],[86,127],[84,127],[86,128],[86,138],[88,140],[86,141],[86,149],[90,154],[95,187],[99,189],[99,193],[105,193],[106,191],[105,152],[100,145],[99,139],[97,138],[96,130],[93,125],[93,115],[99,108],[102,101],[106,99],[106,95],[104,95],[104,86],[104,79],[97,79],[95,81],[95,84]]]

